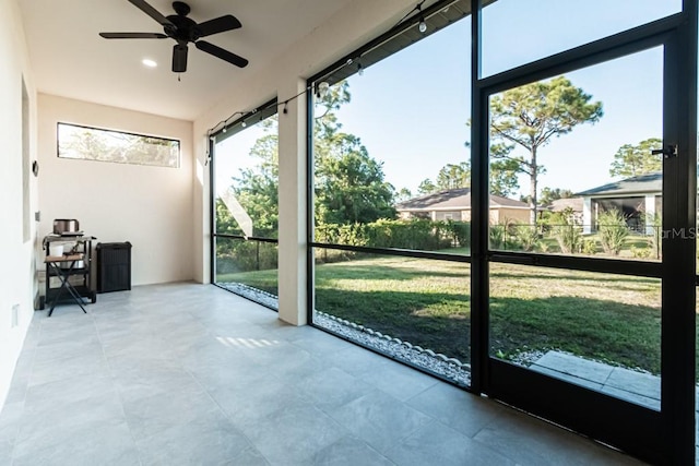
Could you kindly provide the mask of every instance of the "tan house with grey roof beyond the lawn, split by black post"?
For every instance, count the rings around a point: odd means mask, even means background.
[[[471,220],[471,188],[458,188],[408,199],[395,205],[401,218]],[[490,195],[490,224],[529,223],[529,205],[521,201]]]

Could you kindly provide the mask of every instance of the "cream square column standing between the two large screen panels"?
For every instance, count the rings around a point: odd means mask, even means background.
[[[282,83],[283,101],[306,88],[305,80]],[[306,325],[306,95],[301,94],[279,112],[280,153],[280,319]]]

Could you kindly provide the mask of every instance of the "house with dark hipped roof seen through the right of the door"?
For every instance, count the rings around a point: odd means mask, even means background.
[[[663,174],[640,175],[592,188],[582,196],[583,232],[596,230],[601,212],[616,208],[624,213],[629,228],[651,235],[652,218],[662,212]]]

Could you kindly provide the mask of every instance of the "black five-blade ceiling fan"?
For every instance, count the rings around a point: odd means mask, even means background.
[[[248,60],[225,50],[205,40],[199,40],[201,37],[211,36],[212,34],[224,33],[226,31],[242,27],[237,17],[226,14],[213,20],[204,21],[197,24],[193,20],[187,17],[190,8],[181,1],[173,2],[173,9],[176,14],[164,16],[156,9],[151,7],[145,0],[129,0],[145,14],[157,21],[165,34],[162,33],[99,33],[106,39],[166,39],[173,38],[177,41],[173,47],[173,71],[175,73],[183,73],[187,71],[187,45],[193,43],[201,51],[213,55],[230,64],[245,68]]]

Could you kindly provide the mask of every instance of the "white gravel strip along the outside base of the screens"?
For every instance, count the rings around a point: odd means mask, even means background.
[[[239,283],[216,283],[216,285],[268,308],[279,310],[279,301],[274,295]],[[431,349],[424,349],[318,310],[313,318],[313,324],[386,356],[422,368],[458,385],[471,385],[471,365],[455,358],[449,358]]]

